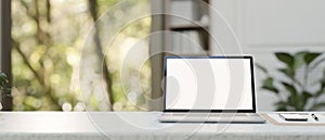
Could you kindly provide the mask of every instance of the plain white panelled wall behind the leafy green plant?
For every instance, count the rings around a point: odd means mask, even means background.
[[[256,62],[275,71],[281,66],[275,51],[325,51],[324,0],[211,0],[211,35],[219,41],[212,53],[253,54]],[[231,29],[238,37],[235,43]],[[240,50],[242,49],[242,50]],[[274,110],[276,97],[259,90],[261,72],[257,76],[257,102],[260,111]]]

